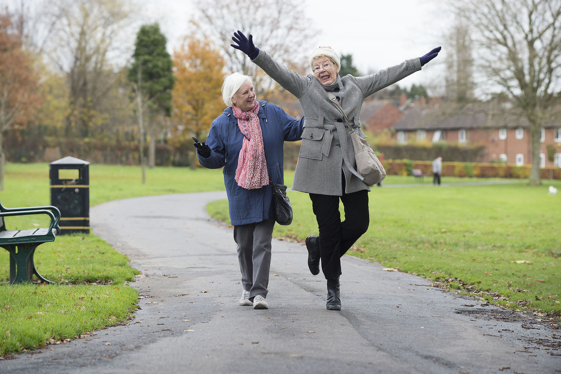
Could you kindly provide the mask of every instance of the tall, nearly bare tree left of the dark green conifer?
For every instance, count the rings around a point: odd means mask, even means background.
[[[102,102],[117,80],[112,58],[123,52],[127,1],[49,0],[45,12],[52,37],[44,49],[70,89],[67,135],[91,136],[105,121]]]

